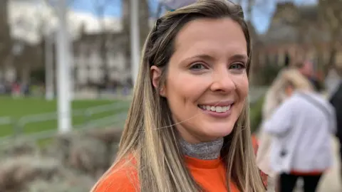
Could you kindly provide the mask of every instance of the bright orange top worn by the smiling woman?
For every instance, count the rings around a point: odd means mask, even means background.
[[[190,156],[186,156],[185,162],[190,170],[195,181],[199,183],[205,191],[227,191],[226,186],[226,171],[224,164],[220,159],[214,160],[202,160],[195,159]],[[135,162],[133,161],[133,164]],[[118,164],[118,171],[112,174],[108,174],[107,178],[101,181],[95,192],[135,192],[139,191],[138,185],[138,172],[134,168],[134,165]],[[120,166],[121,169],[120,169]],[[232,192],[238,192],[237,186],[234,183],[230,183]]]

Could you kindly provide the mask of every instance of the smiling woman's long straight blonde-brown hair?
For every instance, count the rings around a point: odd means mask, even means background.
[[[187,170],[167,100],[160,97],[159,90],[152,86],[150,68],[156,65],[162,70],[160,86],[164,85],[167,65],[180,29],[197,18],[225,17],[232,18],[242,27],[248,55],[251,57],[249,31],[242,8],[224,0],[199,0],[195,4],[165,14],[157,20],[145,41],[133,102],[117,158],[111,168],[113,170],[118,162],[133,154],[138,162],[136,169],[140,191],[202,191]],[[249,67],[248,65],[247,74]],[[251,140],[249,105],[246,101],[232,134],[224,137],[221,156],[227,166],[227,186],[234,181],[241,191],[264,191]],[[108,178],[109,174],[113,174],[113,171],[104,174],[100,181]],[[230,188],[228,190],[231,191]]]

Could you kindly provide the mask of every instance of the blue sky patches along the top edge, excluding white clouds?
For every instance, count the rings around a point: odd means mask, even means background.
[[[158,0],[149,0],[150,9],[152,14],[156,12],[158,6]],[[259,33],[264,33],[268,26],[270,18],[274,12],[275,2],[284,0],[259,0],[259,5],[253,9],[252,13],[252,23]],[[316,0],[294,0],[296,4],[314,4]],[[109,3],[108,3],[109,2]],[[258,0],[257,0],[258,2]],[[121,0],[73,0],[71,3],[71,8],[73,11],[86,12],[88,14],[93,14],[98,16],[98,11],[96,11],[96,6],[107,4],[104,11],[105,16],[120,17],[121,11]],[[243,6],[244,7],[244,6]]]

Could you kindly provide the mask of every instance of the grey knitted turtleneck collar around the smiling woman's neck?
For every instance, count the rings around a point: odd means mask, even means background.
[[[217,159],[223,146],[223,137],[212,142],[198,144],[190,144],[184,139],[180,139],[180,146],[186,156],[204,160]]]

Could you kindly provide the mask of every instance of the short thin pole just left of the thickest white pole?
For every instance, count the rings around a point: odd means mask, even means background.
[[[46,36],[45,41],[45,97],[46,100],[53,100],[53,43],[51,36]]]

